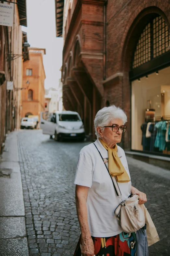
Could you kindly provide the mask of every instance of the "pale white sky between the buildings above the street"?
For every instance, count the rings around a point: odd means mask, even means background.
[[[46,48],[43,57],[45,89],[57,88],[61,78],[63,38],[56,38],[55,0],[27,0],[27,40],[31,47]]]

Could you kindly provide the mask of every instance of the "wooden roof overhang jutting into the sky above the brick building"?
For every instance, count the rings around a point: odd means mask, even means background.
[[[63,35],[64,0],[55,0],[56,37]]]

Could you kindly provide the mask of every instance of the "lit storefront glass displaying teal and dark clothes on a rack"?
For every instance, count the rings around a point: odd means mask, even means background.
[[[170,155],[170,67],[132,82],[132,149]]]

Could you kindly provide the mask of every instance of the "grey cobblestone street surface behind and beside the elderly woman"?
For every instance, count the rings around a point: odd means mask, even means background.
[[[73,255],[80,234],[73,182],[78,153],[87,144],[56,142],[41,130],[18,133],[30,255]],[[168,256],[170,180],[141,169],[137,160],[128,162],[132,185],[147,194],[146,207],[160,236],[149,256]]]

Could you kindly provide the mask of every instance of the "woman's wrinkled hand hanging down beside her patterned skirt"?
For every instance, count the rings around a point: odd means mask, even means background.
[[[92,237],[81,240],[81,255],[94,256],[94,244]]]

